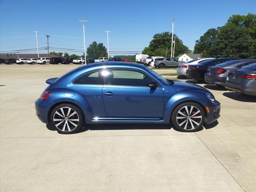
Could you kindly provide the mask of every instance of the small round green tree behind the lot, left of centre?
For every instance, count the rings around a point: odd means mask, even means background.
[[[97,43],[96,41],[92,42],[86,51],[86,56],[88,58],[96,58],[98,59],[99,57],[106,57],[107,54],[107,49],[103,45],[103,43]]]

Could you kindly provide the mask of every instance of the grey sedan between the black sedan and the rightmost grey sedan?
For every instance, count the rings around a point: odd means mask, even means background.
[[[255,62],[256,59],[241,59],[211,66],[204,76],[204,81],[214,83],[218,86],[225,86],[226,78],[230,70],[237,70]]]

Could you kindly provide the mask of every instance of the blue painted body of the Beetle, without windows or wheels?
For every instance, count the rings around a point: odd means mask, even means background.
[[[99,70],[136,70],[152,78],[158,86],[114,86],[75,84],[79,77]],[[49,116],[54,106],[68,102],[78,106],[84,113],[86,123],[169,123],[172,112],[178,104],[194,101],[205,109],[206,122],[216,120],[213,113],[220,109],[220,103],[210,102],[206,97],[207,89],[194,84],[174,81],[168,84],[145,66],[136,63],[101,62],[78,67],[60,78],[47,80],[50,97],[35,102],[38,118],[49,123]],[[111,93],[111,94],[110,94]]]

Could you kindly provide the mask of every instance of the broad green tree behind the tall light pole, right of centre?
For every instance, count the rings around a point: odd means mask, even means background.
[[[185,46],[176,36],[173,35],[173,40],[175,39],[175,52],[174,56],[178,56],[179,54],[190,53],[191,51]],[[150,41],[149,46],[145,47],[142,51],[142,54],[147,54],[150,56],[166,56],[166,48],[167,56],[171,56],[171,44],[172,44],[172,33],[170,32],[163,32],[157,33],[153,36],[153,40]]]

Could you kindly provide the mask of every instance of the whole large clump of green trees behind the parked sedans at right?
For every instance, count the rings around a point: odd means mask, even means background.
[[[222,27],[196,40],[194,53],[203,57],[256,58],[256,14],[232,15]]]

